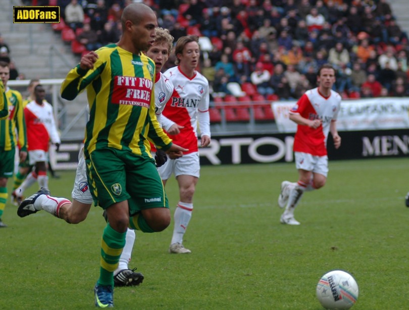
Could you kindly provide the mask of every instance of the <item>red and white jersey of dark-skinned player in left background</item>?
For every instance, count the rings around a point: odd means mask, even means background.
[[[42,106],[35,101],[24,108],[27,127],[28,150],[41,149],[48,151],[48,142],[61,143],[54,120],[53,107],[45,100]]]

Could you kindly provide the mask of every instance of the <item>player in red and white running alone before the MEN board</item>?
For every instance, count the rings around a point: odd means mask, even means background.
[[[328,175],[327,137],[331,132],[335,148],[341,146],[336,120],[340,110],[341,96],[332,90],[335,70],[325,64],[318,71],[319,86],[306,91],[289,112],[290,120],[297,123],[294,137],[295,166],[298,181],[281,183],[278,198],[285,211],[280,222],[299,225],[294,219],[294,209],[304,191],[319,189],[325,185]]]

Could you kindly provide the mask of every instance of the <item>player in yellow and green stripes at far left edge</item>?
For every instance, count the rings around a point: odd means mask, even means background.
[[[7,87],[10,78],[9,64],[0,62],[0,78],[5,88],[6,107],[9,117],[0,121],[0,227],[6,225],[1,218],[8,199],[7,181],[13,177],[16,146],[20,150],[20,161],[27,157],[27,133],[21,94]],[[16,129],[18,136],[16,136]]]

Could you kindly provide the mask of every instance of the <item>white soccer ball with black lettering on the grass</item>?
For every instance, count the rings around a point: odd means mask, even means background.
[[[327,310],[344,310],[358,298],[358,285],[345,271],[333,270],[323,275],[317,284],[317,298]]]

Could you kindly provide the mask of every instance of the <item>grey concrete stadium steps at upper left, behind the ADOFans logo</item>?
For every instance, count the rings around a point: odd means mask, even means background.
[[[79,57],[71,52],[71,46],[64,44],[61,34],[55,33],[51,24],[13,24],[13,6],[21,6],[19,0],[5,1],[0,10],[0,32],[11,50],[11,59],[19,73],[26,79],[62,79],[68,71],[79,63]],[[26,95],[25,89],[19,89]],[[86,106],[86,96],[80,95],[76,100],[63,101],[67,113],[60,119],[65,124],[75,121],[75,126],[65,135],[71,139],[82,139],[84,136],[84,119],[76,116]],[[64,109],[59,105],[59,111]],[[65,138],[63,137],[63,138]]]

